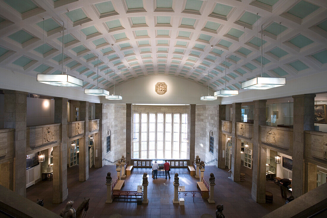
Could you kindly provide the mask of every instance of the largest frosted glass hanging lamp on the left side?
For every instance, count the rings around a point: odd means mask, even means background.
[[[67,74],[38,74],[36,81],[55,86],[83,86],[83,80]]]

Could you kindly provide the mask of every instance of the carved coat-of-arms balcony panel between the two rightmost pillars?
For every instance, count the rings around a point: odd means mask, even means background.
[[[293,152],[293,128],[277,126],[259,126],[261,144],[279,148],[286,154]]]

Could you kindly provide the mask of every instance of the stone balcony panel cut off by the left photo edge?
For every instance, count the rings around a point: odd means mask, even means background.
[[[0,163],[14,157],[14,131],[15,129],[0,129]]]

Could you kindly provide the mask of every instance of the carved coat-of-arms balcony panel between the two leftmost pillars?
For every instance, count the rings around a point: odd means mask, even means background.
[[[46,145],[60,143],[61,124],[53,123],[47,125],[27,126],[26,148],[34,150]]]

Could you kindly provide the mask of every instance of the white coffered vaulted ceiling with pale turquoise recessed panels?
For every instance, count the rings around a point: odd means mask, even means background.
[[[0,66],[60,74],[63,40],[63,71],[85,88],[149,75],[207,86],[209,71],[213,91],[225,83],[240,89],[261,75],[261,60],[264,77],[287,82],[327,70],[326,7],[324,0],[1,0]]]

